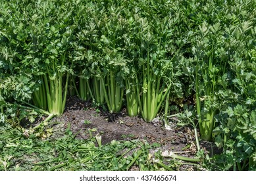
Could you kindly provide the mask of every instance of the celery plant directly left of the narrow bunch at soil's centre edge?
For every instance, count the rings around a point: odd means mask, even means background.
[[[100,85],[109,111],[119,112],[124,96],[124,77],[128,72],[122,51],[127,23],[126,19],[120,15],[122,11],[120,7],[111,5],[107,11],[110,14],[105,14],[106,20],[104,24],[101,24],[101,39],[98,43],[100,48],[98,58],[101,63],[94,62],[93,64],[97,63],[97,76],[100,78]],[[102,98],[101,95],[99,97]]]

